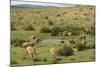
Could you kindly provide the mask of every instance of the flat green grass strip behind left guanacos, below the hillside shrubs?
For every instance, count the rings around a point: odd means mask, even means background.
[[[40,33],[37,31],[12,31],[11,39],[25,39],[29,38],[30,35],[36,35],[37,37],[48,39],[48,38],[58,38],[57,36],[53,37],[50,33]]]

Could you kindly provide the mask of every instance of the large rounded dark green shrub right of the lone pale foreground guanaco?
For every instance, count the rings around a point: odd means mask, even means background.
[[[64,45],[61,49],[58,50],[57,54],[61,56],[73,55],[73,49],[71,46]]]

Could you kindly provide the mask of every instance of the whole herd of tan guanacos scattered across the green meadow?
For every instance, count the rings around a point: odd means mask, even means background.
[[[72,35],[72,32],[67,32],[67,31],[58,32],[58,36],[62,36],[62,37],[71,36],[71,35]],[[21,47],[25,51],[25,55],[28,55],[32,61],[34,61],[36,58],[37,45],[40,42],[41,42],[41,39],[37,38],[34,35],[31,35],[29,41],[26,41],[22,43],[21,45]],[[61,40],[60,42],[64,43],[63,40]],[[82,35],[77,40],[70,40],[69,42],[72,47],[76,47],[78,43],[86,43],[86,35]],[[50,53],[51,53],[52,59],[55,60],[56,59],[56,49],[53,47],[50,48]]]

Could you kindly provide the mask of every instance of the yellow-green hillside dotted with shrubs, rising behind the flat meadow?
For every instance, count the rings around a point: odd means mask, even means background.
[[[58,26],[63,30],[90,30],[94,28],[94,17],[94,6],[11,8],[11,29],[40,31],[43,27],[51,30],[52,27]]]

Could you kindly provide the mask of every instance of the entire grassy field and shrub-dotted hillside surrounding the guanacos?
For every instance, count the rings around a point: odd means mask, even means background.
[[[85,34],[88,48],[82,51],[73,48],[74,54],[67,57],[57,55],[57,63],[95,61],[94,17],[94,6],[11,8],[11,65],[52,64],[50,48],[62,48],[61,37],[57,36],[60,31],[72,32],[72,36],[64,38],[66,45],[70,45],[70,39],[74,40]],[[22,41],[28,40],[31,35],[42,40],[37,46],[35,62],[26,58],[23,48],[20,47]]]

